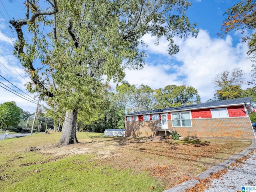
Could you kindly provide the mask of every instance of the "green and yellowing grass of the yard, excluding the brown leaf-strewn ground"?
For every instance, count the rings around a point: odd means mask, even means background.
[[[162,191],[148,172],[98,166],[95,154],[56,158],[33,147],[56,144],[61,133],[35,134],[0,141],[0,190],[6,192]],[[94,134],[95,136],[102,134]],[[77,133],[78,140],[89,137]]]

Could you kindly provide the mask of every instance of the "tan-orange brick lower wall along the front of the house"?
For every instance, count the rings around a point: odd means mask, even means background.
[[[126,136],[151,136],[151,128],[161,121],[126,122]],[[168,120],[168,129],[177,130],[183,137],[230,137],[255,138],[249,117],[197,118],[192,119],[192,127],[172,127]]]

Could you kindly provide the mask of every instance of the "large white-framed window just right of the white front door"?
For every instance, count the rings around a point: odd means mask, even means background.
[[[173,127],[191,127],[190,112],[172,113]]]

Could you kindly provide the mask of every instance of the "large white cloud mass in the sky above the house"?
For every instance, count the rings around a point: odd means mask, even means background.
[[[143,39],[149,43],[147,52],[167,56],[168,44],[164,38],[160,39],[159,46],[154,45],[154,37],[146,35]],[[178,39],[175,42],[180,46],[180,52],[173,58],[167,56],[170,64],[158,60],[157,65],[146,64],[143,70],[126,70],[126,80],[130,84],[143,83],[154,89],[169,84],[186,84],[196,88],[201,101],[206,102],[213,98],[215,92],[212,83],[214,77],[223,70],[240,68],[246,73],[246,80],[251,79],[252,63],[246,60],[247,45],[238,43],[233,46],[231,36],[211,38],[207,30],[200,30],[197,38]],[[154,60],[152,56],[150,58]],[[175,64],[175,60],[178,64]]]

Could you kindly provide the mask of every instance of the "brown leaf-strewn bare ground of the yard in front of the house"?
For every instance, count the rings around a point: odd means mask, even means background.
[[[69,146],[40,147],[40,152],[54,156],[96,154],[98,166],[109,165],[117,170],[148,172],[170,188],[200,172],[223,162],[250,146],[250,140],[224,138],[163,138],[95,137]]]

